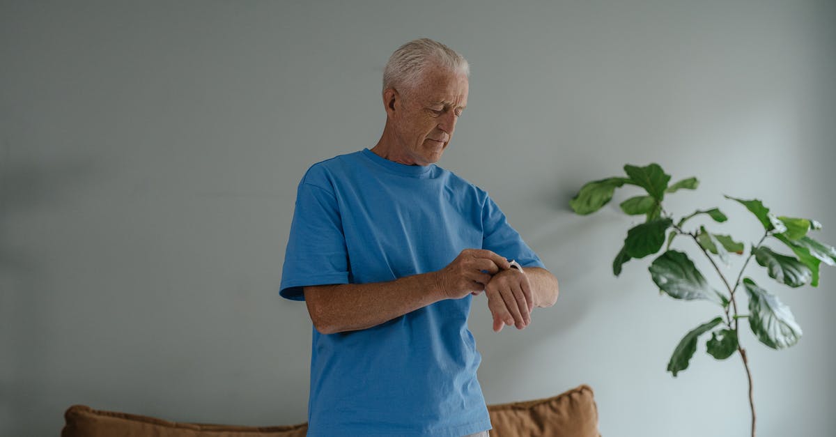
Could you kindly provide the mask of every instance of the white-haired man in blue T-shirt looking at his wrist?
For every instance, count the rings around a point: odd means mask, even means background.
[[[299,183],[280,293],[314,324],[308,436],[487,435],[472,296],[485,292],[496,332],[557,299],[487,193],[435,165],[469,74],[444,44],[404,44],[385,68],[380,141]]]

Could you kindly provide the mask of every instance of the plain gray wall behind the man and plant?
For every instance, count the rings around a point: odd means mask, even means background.
[[[374,145],[388,55],[429,36],[472,63],[441,165],[487,189],[560,280],[523,332],[493,333],[477,301],[487,401],[589,383],[607,436],[747,435],[739,357],[701,346],[665,373],[714,307],[659,296],[650,259],[612,275],[637,223],[617,205],[637,192],[589,217],[567,202],[659,162],[701,179],[670,198],[677,215],[719,206],[731,219],[711,229],[748,243],[759,224],[722,194],[762,198],[836,244],[834,18],[813,0],[2,2],[0,434],[55,435],[71,404],[305,420],[310,321],[278,296],[296,186]],[[747,272],[804,329],[782,352],[743,334],[759,435],[836,434],[836,270],[800,290]]]

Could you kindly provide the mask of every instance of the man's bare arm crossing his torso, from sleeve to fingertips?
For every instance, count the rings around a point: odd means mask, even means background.
[[[377,326],[437,301],[485,290],[492,275],[508,266],[505,258],[490,250],[465,249],[438,271],[388,282],[314,285],[303,290],[314,327],[334,334]]]

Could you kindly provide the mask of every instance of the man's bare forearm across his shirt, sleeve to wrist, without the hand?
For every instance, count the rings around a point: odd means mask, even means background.
[[[446,299],[436,272],[370,284],[304,287],[311,321],[323,334],[357,331]]]

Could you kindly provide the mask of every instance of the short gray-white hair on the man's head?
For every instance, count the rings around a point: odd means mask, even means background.
[[[383,90],[413,88],[427,67],[440,66],[470,77],[470,64],[461,54],[429,38],[414,39],[395,50],[383,70]]]

